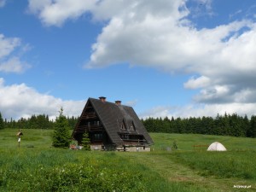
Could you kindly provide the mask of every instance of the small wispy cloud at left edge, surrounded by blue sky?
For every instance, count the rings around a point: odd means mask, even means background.
[[[15,54],[19,51],[26,52],[28,45],[21,46],[20,38],[5,38],[0,34],[0,72],[4,73],[23,73],[31,67],[25,61],[20,61],[20,57]]]

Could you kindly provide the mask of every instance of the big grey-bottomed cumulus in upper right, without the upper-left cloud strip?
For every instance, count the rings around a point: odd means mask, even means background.
[[[211,1],[201,3],[210,9]],[[184,83],[185,88],[201,89],[194,98],[198,103],[232,103],[243,90],[254,92],[255,23],[235,20],[197,29],[188,20],[189,14],[185,1],[172,5],[161,1],[158,6],[139,1],[126,7],[124,14],[114,15],[102,29],[85,67],[127,62],[170,73],[198,74],[199,78],[193,75]],[[242,94],[239,102],[252,102],[251,95]]]

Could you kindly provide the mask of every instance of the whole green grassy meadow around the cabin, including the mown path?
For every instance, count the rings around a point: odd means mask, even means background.
[[[0,131],[0,191],[255,191],[256,139],[151,133],[148,153],[51,147],[51,130]],[[173,149],[173,142],[177,149]],[[207,152],[213,142],[226,152]],[[246,189],[244,189],[246,188]]]

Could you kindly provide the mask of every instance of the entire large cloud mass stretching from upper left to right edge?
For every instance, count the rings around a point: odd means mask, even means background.
[[[212,0],[193,1],[213,15]],[[47,26],[61,26],[66,20],[86,13],[90,13],[93,20],[106,22],[92,45],[90,61],[85,67],[125,62],[169,73],[191,74],[183,86],[201,89],[194,101],[206,104],[203,108],[192,107],[195,113],[227,108],[241,112],[245,108],[250,113],[256,103],[253,97],[256,92],[253,83],[256,81],[255,22],[233,20],[198,29],[189,20],[195,12],[187,7],[187,2],[30,0],[29,9]]]

